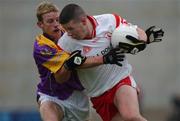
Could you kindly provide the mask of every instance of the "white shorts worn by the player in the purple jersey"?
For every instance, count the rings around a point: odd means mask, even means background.
[[[57,97],[49,96],[38,92],[40,98],[38,101],[52,101],[58,104],[63,112],[63,121],[87,121],[90,118],[89,98],[80,91],[74,91],[66,100],[59,100]]]

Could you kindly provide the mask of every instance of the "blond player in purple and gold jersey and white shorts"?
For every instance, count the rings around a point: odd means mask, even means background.
[[[86,121],[89,100],[75,71],[65,69],[70,58],[58,45],[64,30],[59,24],[60,11],[52,3],[38,5],[37,25],[42,30],[34,42],[33,56],[40,75],[37,102],[43,121]]]

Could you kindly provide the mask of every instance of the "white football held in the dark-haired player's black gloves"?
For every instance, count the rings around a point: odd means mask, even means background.
[[[138,33],[136,31],[137,26],[129,24],[121,24],[117,27],[111,36],[111,44],[113,47],[119,45],[119,42],[132,43],[130,40],[126,39],[126,35],[131,35],[138,38]]]

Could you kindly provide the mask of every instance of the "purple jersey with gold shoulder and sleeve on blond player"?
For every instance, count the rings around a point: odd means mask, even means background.
[[[62,66],[69,55],[45,35],[39,35],[34,42],[33,56],[40,74],[37,91],[61,100],[67,99],[73,90],[83,90],[76,72],[62,84],[55,81],[54,73]]]

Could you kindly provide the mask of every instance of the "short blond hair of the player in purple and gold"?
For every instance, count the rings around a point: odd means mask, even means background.
[[[50,12],[59,12],[59,8],[51,2],[43,1],[37,6],[36,17],[38,21],[42,21],[42,15]]]

